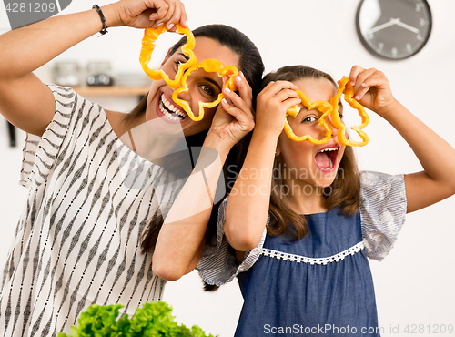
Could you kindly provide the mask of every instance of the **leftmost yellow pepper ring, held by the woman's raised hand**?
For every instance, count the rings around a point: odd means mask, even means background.
[[[150,59],[152,57],[152,52],[156,46],[155,42],[157,41],[157,37],[167,32],[168,30],[166,25],[161,25],[157,29],[146,28],[146,30],[144,31],[144,37],[142,38],[142,48],[139,56],[139,62],[148,77],[150,77],[154,81],[164,79],[167,85],[174,89],[180,86],[184,72],[191,66],[196,65],[197,63],[196,56],[193,52],[193,48],[196,45],[195,36],[193,36],[191,30],[189,30],[189,28],[187,27],[183,27],[180,24],[176,24],[176,27],[177,27],[176,32],[178,34],[181,35],[185,34],[187,36],[187,43],[184,46],[182,46],[182,52],[183,54],[188,56],[189,59],[187,60],[187,62],[181,64],[178,67],[177,75],[173,80],[171,80],[163,70],[150,69],[148,67],[148,63],[150,62]]]

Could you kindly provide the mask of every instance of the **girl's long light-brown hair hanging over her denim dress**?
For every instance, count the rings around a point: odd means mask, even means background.
[[[269,73],[262,80],[262,88],[271,81],[285,80],[295,82],[299,79],[328,80],[337,87],[337,84],[329,74],[309,66],[284,66],[277,71]],[[268,226],[268,234],[282,235],[288,233],[292,239],[303,238],[308,231],[308,223],[305,217],[296,213],[289,206],[288,191],[283,177],[285,165],[281,156],[275,158],[273,172],[272,191],[270,194],[271,223]],[[352,215],[357,212],[360,205],[360,178],[354,151],[346,147],[343,158],[339,163],[339,170],[333,183],[323,189],[328,209],[339,208],[343,214]],[[292,226],[289,228],[289,226]]]

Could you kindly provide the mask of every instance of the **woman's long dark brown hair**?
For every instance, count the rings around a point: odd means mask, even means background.
[[[253,98],[256,97],[258,93],[258,87],[260,86],[261,78],[264,73],[264,64],[262,58],[259,54],[258,48],[253,44],[253,42],[245,36],[243,33],[238,31],[236,28],[225,25],[207,25],[201,26],[193,30],[193,35],[195,37],[205,36],[217,41],[221,46],[227,46],[234,54],[238,56],[239,71],[242,71],[245,75],[249,86],[253,92]],[[172,56],[180,46],[183,46],[187,43],[187,36],[182,37],[175,46],[173,46],[168,56]],[[138,106],[133,109],[125,118],[125,122],[131,122],[138,120],[146,113],[147,108],[147,96],[144,97]],[[198,133],[197,135],[189,136],[186,138],[187,147],[191,148],[200,148],[204,143],[204,140],[207,136],[207,131]],[[232,172],[238,172],[241,166],[238,166],[238,163],[241,163],[241,158],[245,157],[244,152],[247,148],[238,145],[229,152],[227,160],[223,167],[225,185],[227,193],[230,191],[231,187],[234,185],[232,180],[237,177],[237,175],[232,175]],[[194,162],[197,162],[197,158],[193,158]],[[178,166],[178,158],[172,158],[172,164]],[[190,172],[187,172],[189,175]],[[184,172],[185,174],[185,172]],[[230,174],[230,175],[229,175]],[[214,238],[217,232],[217,210],[221,201],[214,205],[210,220],[207,226],[207,244],[213,244]],[[159,230],[163,226],[163,217],[159,209],[156,210],[155,214],[152,216],[152,219],[147,224],[142,235],[141,247],[142,251],[153,251],[157,244],[157,238]]]

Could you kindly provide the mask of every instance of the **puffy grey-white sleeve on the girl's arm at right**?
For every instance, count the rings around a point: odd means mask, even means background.
[[[393,248],[406,216],[404,175],[361,173],[360,217],[365,251],[382,260]]]

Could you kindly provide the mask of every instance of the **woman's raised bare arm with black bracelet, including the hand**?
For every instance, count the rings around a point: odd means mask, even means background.
[[[122,0],[101,7],[106,26],[146,28],[187,15],[177,0]],[[0,113],[17,128],[41,136],[55,112],[54,97],[33,71],[103,28],[96,9],[59,15],[0,36]]]

